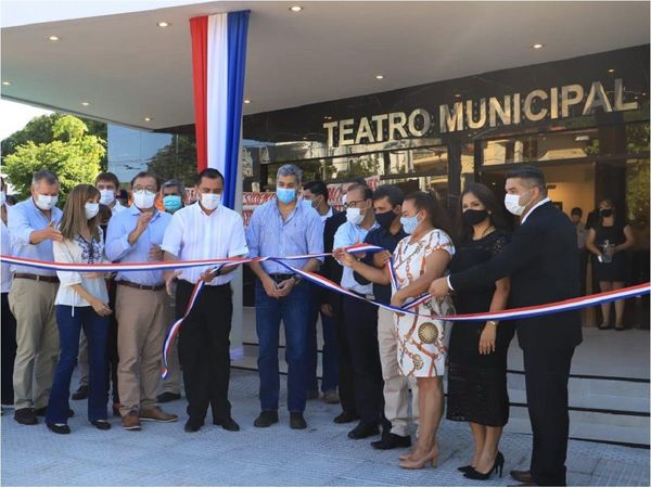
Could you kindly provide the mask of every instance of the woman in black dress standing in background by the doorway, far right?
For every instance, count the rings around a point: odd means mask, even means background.
[[[592,272],[602,292],[624,287],[627,274],[627,256],[624,251],[635,244],[630,226],[618,218],[611,198],[599,203],[599,220],[588,231],[586,247],[592,253]],[[610,329],[611,304],[601,304],[601,325]],[[615,330],[624,330],[624,300],[615,301]]]

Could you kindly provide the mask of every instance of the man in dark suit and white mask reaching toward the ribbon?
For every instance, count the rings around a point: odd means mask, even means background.
[[[505,205],[522,216],[505,251],[467,271],[435,280],[430,293],[488,285],[510,277],[511,308],[548,304],[579,294],[576,231],[547,197],[540,169],[523,166],[507,174]],[[523,486],[564,486],[570,418],[567,380],[574,348],[582,342],[578,310],[518,320],[524,357],[533,438],[529,471],[513,471]]]

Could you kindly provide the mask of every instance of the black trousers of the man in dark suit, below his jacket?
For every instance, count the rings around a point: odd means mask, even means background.
[[[574,348],[525,349],[526,400],[534,433],[531,472],[539,486],[565,486],[570,415],[567,381]]]

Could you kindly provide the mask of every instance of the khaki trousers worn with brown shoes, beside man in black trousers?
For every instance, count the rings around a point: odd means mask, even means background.
[[[117,285],[117,388],[120,413],[156,406],[163,342],[173,320],[165,290],[157,292]]]

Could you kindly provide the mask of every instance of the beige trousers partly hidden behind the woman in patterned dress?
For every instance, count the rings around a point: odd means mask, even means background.
[[[418,422],[418,386],[416,377],[405,377],[398,367],[398,336],[395,314],[378,310],[378,345],[384,380],[384,416],[391,422],[391,432],[398,436],[409,435],[409,387],[411,387],[411,412]]]

